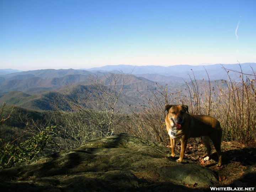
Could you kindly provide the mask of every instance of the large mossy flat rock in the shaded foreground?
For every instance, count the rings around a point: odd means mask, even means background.
[[[0,170],[4,191],[202,191],[218,182],[200,165],[129,134],[93,139],[30,165]],[[191,186],[192,188],[188,188]],[[196,188],[195,188],[196,187]]]

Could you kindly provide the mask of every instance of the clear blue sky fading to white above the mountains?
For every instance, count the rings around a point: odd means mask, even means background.
[[[256,0],[0,0],[0,69],[256,62]]]

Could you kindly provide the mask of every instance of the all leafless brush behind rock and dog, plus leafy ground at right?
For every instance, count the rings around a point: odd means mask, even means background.
[[[185,158],[213,170],[219,175],[220,186],[254,187],[256,75],[254,72],[244,74],[237,71],[240,81],[234,81],[229,77],[229,70],[224,70],[228,80],[196,80],[195,76],[191,76],[191,82],[186,82],[180,90],[170,90],[168,85],[158,85],[158,89],[149,90],[151,97],[141,95],[144,97],[144,103],[137,107],[131,106],[132,114],[129,115],[122,114],[121,108],[116,107],[127,79],[118,79],[123,82],[122,86],[116,86],[117,81],[114,79],[112,86],[109,84],[108,87],[96,79],[95,86],[101,86],[98,90],[103,90],[102,93],[91,91],[97,98],[92,100],[90,97],[81,97],[84,100],[80,100],[76,95],[66,97],[70,99],[70,106],[73,108],[49,113],[44,126],[42,122],[28,125],[30,128],[31,125],[39,128],[41,132],[46,127],[56,126],[51,134],[57,135],[54,139],[61,148],[56,148],[55,151],[75,148],[95,137],[121,132],[167,146],[170,141],[164,124],[165,105],[182,103],[189,106],[192,114],[208,114],[217,118],[223,128],[221,167],[215,167],[216,154],[212,155],[209,162],[202,161],[206,149],[200,138],[189,140]],[[110,76],[108,78],[110,79]],[[91,102],[90,105],[94,106],[85,106],[86,102]],[[62,124],[59,123],[60,120],[63,121]],[[179,147],[177,145],[177,148]]]

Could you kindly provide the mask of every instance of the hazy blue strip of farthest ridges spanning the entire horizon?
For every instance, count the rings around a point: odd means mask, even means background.
[[[95,67],[90,69],[39,69],[30,71],[21,71],[16,73],[1,74],[0,69],[0,84],[11,79],[27,79],[29,77],[40,77],[42,79],[60,78],[65,75],[92,75],[110,73],[124,73],[133,74],[136,76],[145,74],[158,74],[168,77],[176,77],[181,79],[190,79],[189,75],[195,75],[197,79],[219,80],[227,79],[227,71],[230,70],[229,76],[231,78],[239,79],[239,75],[234,71],[243,71],[250,73],[252,69],[256,70],[256,63],[242,63],[242,64],[212,64],[212,65],[106,65],[102,67]],[[207,74],[208,73],[208,74]]]

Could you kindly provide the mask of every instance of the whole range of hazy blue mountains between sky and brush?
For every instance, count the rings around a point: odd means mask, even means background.
[[[226,68],[226,70],[223,69]],[[241,67],[241,68],[240,68]],[[192,70],[191,70],[192,69]],[[136,105],[143,102],[141,94],[150,97],[150,90],[156,90],[158,85],[168,84],[171,89],[185,87],[185,82],[195,79],[211,81],[227,79],[228,74],[233,80],[240,78],[241,71],[254,74],[256,63],[229,65],[175,65],[175,66],[132,66],[108,65],[86,70],[75,69],[44,69],[32,71],[17,71],[0,69],[0,103],[17,105],[34,110],[52,110],[54,98],[61,96],[63,91],[86,89],[90,85],[90,77],[97,75],[104,80],[107,73],[122,73],[129,75],[129,82],[123,90],[122,105]],[[208,73],[208,74],[207,74]],[[254,77],[255,78],[255,77]],[[158,84],[156,84],[158,83]]]

